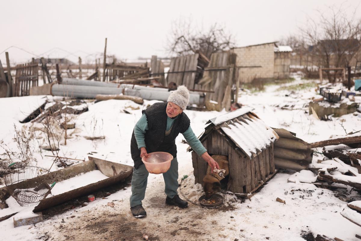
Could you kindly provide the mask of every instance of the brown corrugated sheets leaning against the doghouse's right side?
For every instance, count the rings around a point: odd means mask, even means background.
[[[308,169],[313,156],[310,145],[297,138],[296,133],[286,129],[273,128],[273,130],[279,136],[278,141],[274,144],[275,167],[295,171]]]

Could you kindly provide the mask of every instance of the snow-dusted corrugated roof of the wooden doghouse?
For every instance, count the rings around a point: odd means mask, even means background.
[[[234,144],[250,159],[262,150],[272,145],[279,137],[275,131],[265,124],[255,113],[252,107],[244,107],[225,115],[209,120],[205,132],[199,138],[209,133],[210,128],[220,128]]]

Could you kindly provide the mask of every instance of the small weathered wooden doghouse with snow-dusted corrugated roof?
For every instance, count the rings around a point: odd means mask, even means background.
[[[199,138],[210,155],[228,156],[227,190],[245,195],[275,173],[273,144],[279,138],[252,110],[240,108],[209,120]],[[195,151],[192,163],[195,182],[203,184],[208,164]]]

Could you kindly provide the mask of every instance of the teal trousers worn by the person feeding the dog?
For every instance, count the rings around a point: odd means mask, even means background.
[[[132,195],[130,196],[130,206],[135,207],[142,204],[145,196],[145,189],[147,188],[149,172],[144,165],[133,170],[132,177]],[[166,173],[163,173],[165,189],[164,192],[169,198],[173,198],[178,194],[178,161],[174,158],[170,162],[170,168]]]

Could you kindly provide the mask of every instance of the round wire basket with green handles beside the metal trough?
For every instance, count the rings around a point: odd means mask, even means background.
[[[9,193],[21,206],[37,205],[56,184],[54,175],[47,169],[36,166],[9,165],[5,185]]]

